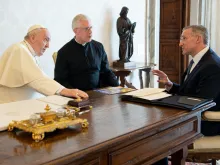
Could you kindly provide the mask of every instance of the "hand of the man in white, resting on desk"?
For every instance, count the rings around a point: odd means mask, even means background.
[[[61,92],[60,95],[62,96],[67,96],[67,97],[74,97],[77,99],[80,98],[88,98],[88,94],[79,90],[79,89],[68,89],[68,88],[64,88]]]

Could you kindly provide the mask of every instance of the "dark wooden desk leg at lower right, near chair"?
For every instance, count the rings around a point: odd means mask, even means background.
[[[185,165],[185,160],[188,155],[188,147],[185,146],[183,149],[173,153],[171,155],[171,162],[174,165]]]

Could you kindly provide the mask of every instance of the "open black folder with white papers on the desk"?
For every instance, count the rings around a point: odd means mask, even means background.
[[[213,99],[168,94],[161,88],[144,88],[121,95],[124,101],[195,110],[213,102]],[[213,104],[213,106],[215,103]]]

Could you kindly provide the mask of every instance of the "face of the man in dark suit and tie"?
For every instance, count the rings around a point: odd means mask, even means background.
[[[179,46],[182,48],[183,55],[196,55],[198,46],[198,35],[192,34],[192,29],[186,29],[182,32]]]

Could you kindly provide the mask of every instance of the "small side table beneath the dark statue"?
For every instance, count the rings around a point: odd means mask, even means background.
[[[124,86],[127,86],[129,88],[134,88],[135,87],[129,83],[127,80],[126,80],[126,76],[129,76],[130,73],[136,69],[138,69],[138,72],[139,72],[139,80],[140,80],[140,87],[143,88],[144,85],[143,85],[143,78],[142,78],[142,72],[145,72],[146,73],[146,87],[149,87],[149,84],[150,84],[150,71],[151,71],[151,67],[154,66],[154,64],[152,65],[149,65],[149,64],[146,64],[146,63],[136,63],[136,66],[133,66],[133,67],[127,67],[127,68],[123,68],[123,67],[113,67],[111,66],[110,68],[112,69],[112,71],[115,73],[115,75],[117,76],[118,80],[120,79],[120,86],[124,87]]]

